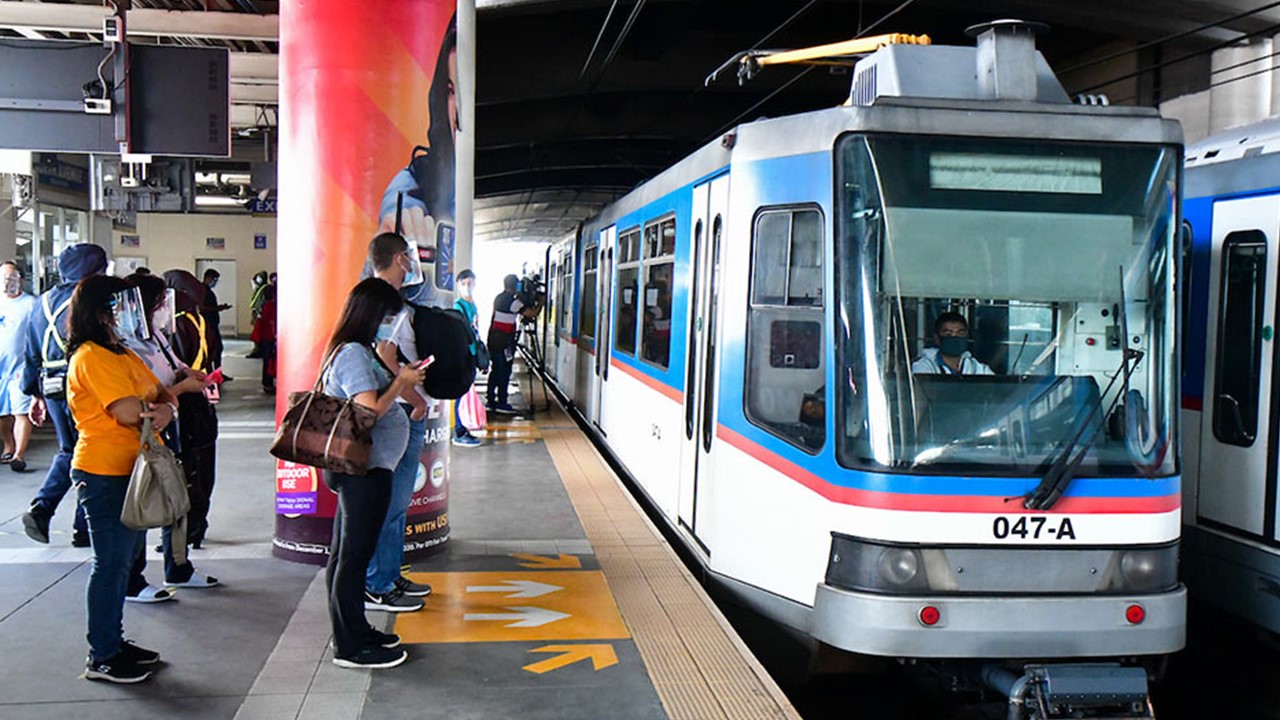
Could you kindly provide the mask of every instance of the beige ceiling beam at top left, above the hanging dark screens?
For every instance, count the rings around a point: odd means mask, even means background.
[[[24,33],[102,32],[110,8],[47,3],[0,3],[0,27]],[[127,33],[141,37],[201,37],[206,40],[266,40],[280,37],[279,15],[204,13],[136,8],[125,15]]]

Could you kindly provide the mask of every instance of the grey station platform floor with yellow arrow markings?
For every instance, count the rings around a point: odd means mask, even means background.
[[[426,607],[369,614],[408,661],[334,666],[323,569],[271,556],[273,405],[246,350],[229,343],[210,532],[192,551],[221,585],[127,603],[125,635],[163,655],[147,683],[78,679],[91,552],[70,547],[74,498],[47,546],[20,520],[52,434],[37,436],[31,473],[0,466],[0,717],[799,717],[558,407],[493,418],[484,446],[453,448],[448,548],[411,568],[434,588]]]

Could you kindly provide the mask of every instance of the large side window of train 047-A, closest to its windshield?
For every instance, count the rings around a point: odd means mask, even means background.
[[[746,416],[814,452],[827,428],[822,213],[763,209],[751,241]]]

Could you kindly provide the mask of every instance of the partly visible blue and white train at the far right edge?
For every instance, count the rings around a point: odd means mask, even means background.
[[[1183,575],[1197,602],[1280,633],[1280,118],[1187,147]]]

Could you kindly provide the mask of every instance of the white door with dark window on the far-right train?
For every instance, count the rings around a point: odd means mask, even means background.
[[[1198,516],[1275,539],[1271,427],[1280,197],[1213,205]]]

